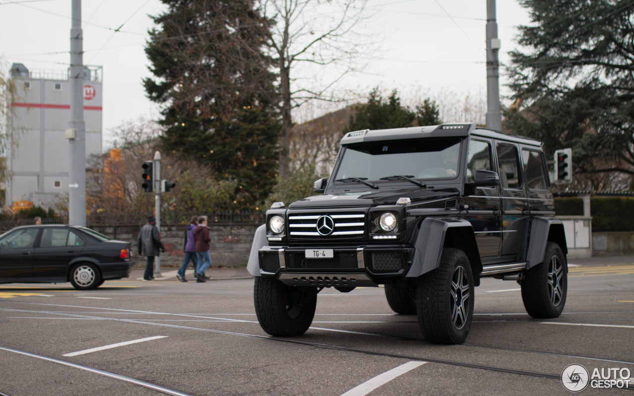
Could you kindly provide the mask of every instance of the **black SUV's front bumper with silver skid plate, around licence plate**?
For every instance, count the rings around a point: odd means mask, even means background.
[[[306,248],[332,249],[333,257],[307,259]],[[263,246],[258,258],[262,276],[294,286],[377,286],[403,278],[413,251],[407,245]]]

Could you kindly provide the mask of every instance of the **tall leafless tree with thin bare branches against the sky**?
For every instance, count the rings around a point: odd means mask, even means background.
[[[365,19],[367,1],[262,0],[263,16],[276,21],[269,44],[280,79],[282,179],[290,172],[292,110],[314,99],[341,101],[333,88],[344,75],[358,70],[359,60],[372,44],[357,29]],[[314,67],[329,67],[332,74],[320,76],[315,84]]]

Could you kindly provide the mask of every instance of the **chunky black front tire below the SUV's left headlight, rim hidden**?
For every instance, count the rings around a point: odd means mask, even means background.
[[[316,288],[287,286],[277,279],[256,277],[257,321],[266,333],[292,337],[306,333],[317,306]]]

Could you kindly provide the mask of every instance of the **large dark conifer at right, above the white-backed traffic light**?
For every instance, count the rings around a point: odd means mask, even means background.
[[[573,148],[575,172],[634,174],[634,3],[521,0],[510,131]]]

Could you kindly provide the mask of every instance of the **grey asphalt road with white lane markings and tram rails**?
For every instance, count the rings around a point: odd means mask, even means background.
[[[467,341],[450,346],[420,340],[382,288],[325,289],[306,335],[271,338],[244,269],[207,283],[135,271],[94,291],[3,284],[0,395],[567,395],[569,364],[634,376],[634,257],[570,261],[562,316],[532,319],[519,284],[486,278]]]

